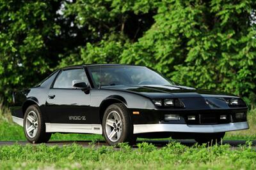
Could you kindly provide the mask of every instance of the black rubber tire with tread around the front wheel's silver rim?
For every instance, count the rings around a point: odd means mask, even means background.
[[[116,141],[112,141],[111,139],[109,139],[107,130],[106,130],[107,118],[111,116],[110,115],[111,113],[113,114],[113,111],[118,113],[118,115],[120,115],[120,118],[122,121],[122,132],[120,132],[120,138],[116,138],[117,139]],[[113,129],[115,129],[115,127],[113,127]],[[117,126],[116,126],[116,129],[118,129]],[[133,134],[133,125],[132,125],[131,117],[129,115],[127,108],[124,106],[124,104],[116,103],[108,106],[103,116],[102,130],[103,130],[103,136],[109,145],[117,145],[118,143],[129,143],[129,145],[134,145],[136,143],[136,136],[134,136]]]

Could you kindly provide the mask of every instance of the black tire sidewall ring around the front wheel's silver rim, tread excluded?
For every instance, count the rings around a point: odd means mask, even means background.
[[[118,112],[118,114],[120,115],[121,121],[122,121],[122,133],[120,138],[113,142],[108,138],[108,135],[106,134],[106,118],[108,117],[109,113],[111,111],[116,111]],[[118,105],[116,104],[111,104],[105,111],[104,116],[103,116],[103,120],[102,120],[102,131],[103,131],[103,136],[106,139],[107,143],[109,143],[109,145],[116,145],[118,143],[122,143],[127,141],[127,138],[129,136],[129,134],[131,133],[131,121],[129,120],[129,118],[127,116],[129,115],[124,115],[124,114],[128,114],[128,113],[124,113],[125,110],[122,110]],[[126,111],[125,111],[126,112]]]

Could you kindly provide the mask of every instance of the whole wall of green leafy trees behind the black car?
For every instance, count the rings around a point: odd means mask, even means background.
[[[256,103],[256,2],[0,0],[0,95],[86,63],[153,67]]]

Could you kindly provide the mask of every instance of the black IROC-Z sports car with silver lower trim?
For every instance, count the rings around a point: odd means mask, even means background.
[[[102,134],[109,145],[170,136],[205,143],[248,129],[241,98],[181,86],[144,66],[65,67],[13,92],[13,102],[13,121],[35,143],[54,132]]]

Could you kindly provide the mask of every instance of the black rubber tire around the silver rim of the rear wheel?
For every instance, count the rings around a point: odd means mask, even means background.
[[[30,121],[28,123],[26,123],[27,117],[30,114],[35,114],[36,118],[37,118],[37,122],[38,122],[37,131],[34,130],[35,136],[28,134],[28,132],[26,131],[26,127],[28,128],[28,126],[29,126],[26,124],[31,123]],[[38,108],[37,105],[31,105],[27,108],[25,115],[24,115],[23,127],[24,127],[23,129],[24,129],[25,136],[30,143],[46,143],[51,138],[51,133],[45,132],[45,122],[44,122],[44,119],[40,112],[40,109]]]

